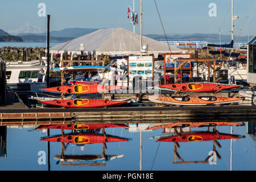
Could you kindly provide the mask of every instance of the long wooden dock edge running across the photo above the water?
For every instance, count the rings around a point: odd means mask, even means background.
[[[140,106],[88,109],[64,109],[59,107],[1,109],[0,107],[0,126],[183,121],[256,121],[256,106]]]

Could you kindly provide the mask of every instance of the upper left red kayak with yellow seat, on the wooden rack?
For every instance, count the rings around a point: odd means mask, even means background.
[[[76,84],[68,86],[55,86],[46,89],[40,89],[44,92],[51,93],[67,93],[67,94],[92,94],[110,92],[111,90],[119,90],[126,87],[123,86],[112,86],[112,85],[100,85],[100,84]]]

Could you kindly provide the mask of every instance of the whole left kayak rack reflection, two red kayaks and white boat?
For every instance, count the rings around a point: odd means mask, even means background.
[[[106,166],[107,161],[122,158],[124,155],[106,155],[105,150],[107,142],[128,142],[130,138],[122,138],[114,135],[106,134],[105,128],[109,127],[125,127],[125,124],[69,124],[69,125],[40,125],[36,127],[35,131],[42,129],[59,129],[61,135],[51,135],[43,137],[40,140],[47,142],[61,142],[61,155],[54,155],[53,159],[57,160],[56,164],[61,162],[61,166]],[[100,130],[102,129],[102,134]],[[64,130],[72,130],[65,134]],[[90,155],[65,155],[67,146],[69,143],[75,143],[84,150],[85,144],[102,143],[102,154],[90,154]]]

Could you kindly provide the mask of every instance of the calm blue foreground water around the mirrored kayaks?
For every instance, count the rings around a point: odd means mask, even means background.
[[[120,158],[109,160],[106,162],[97,162],[97,166],[89,166],[88,162],[57,162],[53,159],[54,155],[61,155],[61,143],[49,142],[49,162],[47,161],[47,142],[40,141],[42,137],[46,137],[47,133],[43,130],[31,131],[35,126],[30,128],[6,128],[6,137],[2,137],[2,148],[6,141],[6,158],[5,155],[0,157],[0,170],[93,170],[93,171],[175,171],[175,170],[232,170],[247,171],[256,169],[256,147],[255,147],[255,127],[256,122],[244,122],[245,126],[233,126],[234,135],[243,135],[245,138],[239,139],[218,139],[221,148],[216,146],[216,151],[220,155],[220,159],[214,158],[207,160],[206,163],[182,163],[174,164],[175,152],[173,142],[156,142],[156,139],[148,139],[163,134],[164,129],[156,129],[146,131],[144,128],[151,123],[130,124],[129,128],[112,127],[106,128],[106,134],[115,135],[118,137],[129,138],[128,142],[108,142],[105,150],[106,155],[122,155]],[[209,127],[209,132],[212,134],[213,127]],[[217,126],[219,133],[230,134],[230,126]],[[250,131],[254,128],[254,131]],[[5,128],[2,127],[5,130]],[[199,131],[207,131],[208,127],[191,127],[195,136],[193,139],[200,140]],[[141,131],[140,131],[141,130]],[[166,128],[166,131],[171,131]],[[173,129],[172,129],[173,130]],[[188,127],[183,127],[183,132],[188,131]],[[1,130],[2,131],[2,130]],[[72,130],[64,130],[65,134]],[[179,129],[178,129],[179,131]],[[253,134],[248,134],[252,132]],[[50,135],[61,135],[61,130],[50,129]],[[100,130],[102,134],[102,130]],[[142,135],[142,168],[140,167],[140,134]],[[181,133],[184,134],[184,133]],[[191,133],[192,134],[192,133]],[[5,136],[5,132],[1,132],[1,136]],[[181,135],[183,137],[184,135]],[[204,138],[204,137],[203,137]],[[232,147],[231,144],[232,143]],[[75,143],[65,143],[67,151],[65,155],[102,155],[102,143],[84,144],[78,146]],[[214,142],[179,142],[180,148],[177,152],[185,162],[204,161],[209,152],[213,151]],[[0,150],[1,151],[1,150]],[[2,151],[3,152],[3,151]],[[232,152],[232,155],[231,155]],[[44,155],[46,154],[46,155]],[[215,153],[216,154],[216,153]],[[216,155],[215,155],[216,156]],[[46,163],[43,163],[46,159]],[[177,157],[177,162],[181,160]],[[41,162],[41,163],[40,163]],[[105,164],[104,164],[105,163]],[[209,164],[212,163],[212,164]],[[215,163],[215,164],[214,164]],[[25,165],[26,164],[26,165]],[[48,165],[49,164],[49,165]],[[68,165],[69,164],[69,165]],[[104,165],[104,166],[101,166]]]

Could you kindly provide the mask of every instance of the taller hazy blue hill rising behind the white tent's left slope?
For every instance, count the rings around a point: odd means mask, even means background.
[[[90,34],[94,31],[99,30],[98,28],[65,28],[63,30],[60,31],[50,31],[49,35],[53,36],[53,37],[62,37],[62,38],[78,38],[80,36],[86,35],[86,34]],[[23,36],[23,35],[46,35],[45,33],[41,33],[41,34],[18,34],[18,36]]]

